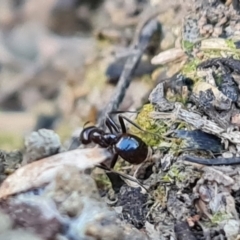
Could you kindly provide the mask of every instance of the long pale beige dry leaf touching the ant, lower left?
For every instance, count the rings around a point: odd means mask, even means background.
[[[79,170],[91,168],[111,158],[107,149],[76,149],[27,164],[10,175],[0,186],[0,199],[10,195],[41,187],[55,178],[66,165]]]

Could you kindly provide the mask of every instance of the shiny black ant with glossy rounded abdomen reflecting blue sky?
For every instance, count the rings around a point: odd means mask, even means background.
[[[118,156],[131,164],[137,165],[147,160],[152,154],[151,148],[148,147],[141,138],[127,132],[124,120],[141,131],[144,131],[143,129],[127,117],[118,115],[120,129],[116,122],[109,116],[110,114],[118,113],[121,112],[110,112],[106,117],[105,124],[110,133],[96,126],[90,126],[84,128],[80,134],[80,141],[83,144],[95,143],[103,148],[110,149],[114,154],[110,163],[110,168],[114,168]]]

